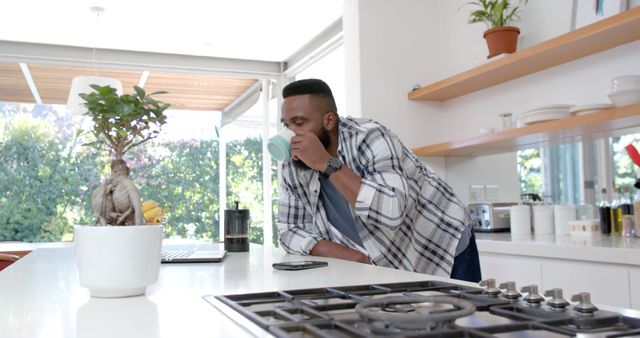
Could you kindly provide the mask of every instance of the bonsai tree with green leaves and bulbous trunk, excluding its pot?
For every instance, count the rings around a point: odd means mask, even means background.
[[[158,136],[166,123],[164,111],[171,105],[156,101],[134,86],[134,94],[118,95],[110,86],[91,85],[94,92],[80,94],[85,101],[86,115],[93,120],[92,134],[96,141],[85,145],[106,149],[113,156],[111,174],[92,195],[92,208],[97,225],[145,224],[140,193],[129,178],[124,155],[144,142]]]

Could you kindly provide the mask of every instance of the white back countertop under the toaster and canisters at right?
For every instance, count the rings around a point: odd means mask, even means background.
[[[480,253],[570,259],[640,266],[640,238],[476,233]]]

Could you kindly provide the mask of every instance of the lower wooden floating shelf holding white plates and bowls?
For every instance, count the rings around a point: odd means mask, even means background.
[[[472,157],[573,143],[640,126],[640,104],[414,148],[418,156]]]

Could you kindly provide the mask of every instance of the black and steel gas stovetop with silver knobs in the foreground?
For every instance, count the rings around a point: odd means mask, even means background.
[[[632,337],[640,319],[599,310],[589,294],[494,280],[473,288],[440,281],[205,296],[243,325],[276,337]],[[235,311],[233,311],[235,310]],[[245,323],[246,324],[246,323]]]

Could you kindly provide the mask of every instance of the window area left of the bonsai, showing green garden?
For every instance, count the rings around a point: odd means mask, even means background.
[[[91,187],[106,161],[80,146],[80,119],[59,108],[0,104],[0,240],[68,239],[92,221]]]

